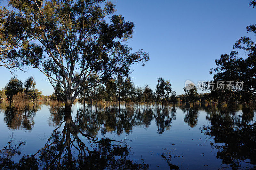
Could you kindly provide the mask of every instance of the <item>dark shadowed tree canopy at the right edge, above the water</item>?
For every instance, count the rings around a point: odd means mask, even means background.
[[[256,25],[246,27],[247,32],[256,34]],[[256,95],[256,45],[248,37],[241,37],[233,46],[234,49],[244,50],[247,58],[238,57],[237,51],[231,51],[230,54],[220,55],[220,59],[216,59],[216,68],[211,69],[215,86],[212,91],[217,96],[242,95],[242,98],[249,95]],[[216,89],[218,82],[224,82],[225,87],[220,90]],[[241,86],[241,83],[243,86]],[[231,85],[231,88],[227,86]],[[222,94],[222,95],[221,95]],[[236,96],[237,97],[237,96]],[[248,98],[244,98],[248,101]]]

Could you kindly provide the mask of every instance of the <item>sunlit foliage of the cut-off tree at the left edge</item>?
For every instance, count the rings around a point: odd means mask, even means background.
[[[25,44],[30,41],[25,34],[28,25],[28,21],[20,13],[0,4],[0,66],[10,71],[21,69],[15,49],[23,45],[26,47]]]

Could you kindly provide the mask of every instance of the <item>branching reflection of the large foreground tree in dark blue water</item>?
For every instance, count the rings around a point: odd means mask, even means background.
[[[77,124],[78,123],[78,124]],[[130,160],[126,140],[97,138],[84,133],[79,121],[65,114],[64,121],[52,132],[42,149],[23,156],[18,163],[5,159],[3,169],[148,169],[143,159]]]

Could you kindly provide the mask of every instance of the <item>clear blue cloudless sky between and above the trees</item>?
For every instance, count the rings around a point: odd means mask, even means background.
[[[134,22],[133,39],[128,45],[134,50],[143,49],[150,55],[144,67],[134,65],[131,77],[137,86],[148,84],[156,89],[156,80],[162,76],[172,82],[177,95],[183,93],[186,80],[207,81],[220,54],[229,53],[242,36],[246,26],[256,24],[256,9],[249,7],[249,0],[116,0],[118,14]],[[255,38],[255,37],[254,37]],[[244,53],[240,53],[244,55]],[[5,68],[0,87],[12,77]],[[52,86],[36,69],[18,73],[24,81],[34,76],[44,95],[51,95]]]

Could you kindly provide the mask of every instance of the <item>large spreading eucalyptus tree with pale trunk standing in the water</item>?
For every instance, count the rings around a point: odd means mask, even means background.
[[[11,0],[9,3],[13,11],[21,14],[19,17],[28,21],[28,38],[25,38],[28,43],[19,51],[24,64],[39,69],[53,87],[61,84],[64,97],[60,98],[68,109],[84,89],[117,75],[127,75],[132,63],[149,59],[147,53],[142,50],[132,53],[124,44],[132,37],[134,25],[113,14],[115,5],[111,2],[104,5],[104,0]],[[35,41],[30,42],[30,38]],[[97,79],[78,91],[90,75],[97,75]]]

